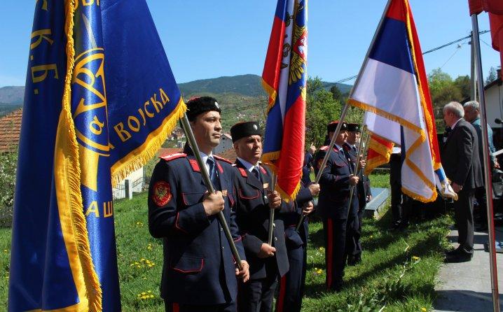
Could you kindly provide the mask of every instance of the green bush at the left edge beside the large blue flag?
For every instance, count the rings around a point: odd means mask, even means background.
[[[11,227],[14,204],[17,149],[13,153],[0,153],[0,227]]]

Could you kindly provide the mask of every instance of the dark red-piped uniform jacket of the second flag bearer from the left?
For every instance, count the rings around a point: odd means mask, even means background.
[[[261,259],[259,253],[262,243],[267,243],[269,232],[269,206],[267,190],[270,185],[270,172],[261,166],[261,181],[236,159],[235,192],[237,197],[236,222],[242,235],[244,252],[249,263],[250,278],[266,277],[266,262],[271,258]],[[284,241],[284,223],[278,210],[275,211],[273,247],[276,248],[275,262],[280,276],[289,269],[287,248]]]

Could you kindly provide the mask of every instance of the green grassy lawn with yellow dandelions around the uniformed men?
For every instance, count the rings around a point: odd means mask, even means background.
[[[375,186],[388,183],[383,174],[371,180]],[[149,234],[146,194],[116,201],[114,211],[123,311],[164,311],[158,290],[163,248]],[[346,288],[334,294],[324,288],[322,224],[312,222],[303,311],[379,311],[384,305],[383,311],[432,309],[449,224],[448,217],[440,217],[404,232],[388,232],[388,213],[380,220],[365,220],[363,261],[346,269]],[[10,229],[0,229],[0,310],[7,301],[10,244]]]

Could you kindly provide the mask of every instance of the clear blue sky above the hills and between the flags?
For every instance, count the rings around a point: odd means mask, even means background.
[[[469,34],[467,0],[410,0],[422,50]],[[147,0],[178,83],[261,75],[276,1]],[[385,0],[310,0],[308,74],[336,81],[358,73],[385,7]],[[24,85],[33,0],[5,1],[0,11],[3,48],[0,87]],[[479,15],[479,29],[489,29]],[[490,34],[481,35],[483,74],[499,66]],[[425,55],[426,71],[441,67],[453,78],[469,75],[468,40]],[[352,82],[350,82],[352,83]]]

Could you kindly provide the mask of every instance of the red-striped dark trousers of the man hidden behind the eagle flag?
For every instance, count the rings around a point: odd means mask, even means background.
[[[303,246],[289,248],[287,245],[290,270],[280,279],[279,295],[276,300],[276,312],[301,311],[308,256],[307,221],[304,221],[303,226],[301,226],[299,235],[303,241]]]

